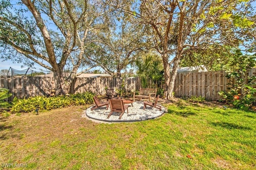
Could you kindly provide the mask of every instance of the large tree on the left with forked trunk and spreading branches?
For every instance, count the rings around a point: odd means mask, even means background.
[[[21,0],[17,4],[2,0],[1,54],[14,62],[38,63],[53,71],[56,94],[65,93],[86,47],[94,41],[94,30],[102,25],[101,7],[100,2],[87,0]],[[65,67],[70,74],[64,78]]]

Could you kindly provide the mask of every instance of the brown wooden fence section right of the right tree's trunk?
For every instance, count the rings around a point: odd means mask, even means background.
[[[256,76],[256,69],[251,69],[248,76]],[[222,98],[218,92],[228,91],[228,87],[232,87],[229,82],[225,71],[178,73],[174,92],[176,97],[202,96],[215,101]]]

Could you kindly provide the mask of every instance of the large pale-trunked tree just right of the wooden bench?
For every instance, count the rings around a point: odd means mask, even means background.
[[[122,2],[122,3],[120,3]],[[177,69],[189,50],[206,50],[212,45],[255,51],[255,9],[250,0],[142,0],[136,10],[125,0],[111,1],[123,12],[137,16],[148,31],[148,40],[162,56],[166,99],[172,90]],[[172,67],[172,71],[170,68]]]

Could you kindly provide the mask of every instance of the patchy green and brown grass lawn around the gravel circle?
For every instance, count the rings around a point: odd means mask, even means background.
[[[178,100],[136,123],[95,123],[85,106],[0,119],[0,162],[26,169],[256,169],[256,113]]]

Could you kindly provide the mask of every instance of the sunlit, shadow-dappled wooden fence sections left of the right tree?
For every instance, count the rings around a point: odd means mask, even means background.
[[[53,77],[33,77],[33,76],[1,76],[0,88],[7,88],[12,96],[8,99],[12,102],[14,97],[24,99],[34,96],[45,96],[54,89]],[[76,94],[91,91],[98,95],[106,94],[105,87],[118,88],[116,78],[75,78],[71,83],[69,93]],[[138,91],[140,79],[138,77],[124,79],[125,91]]]

